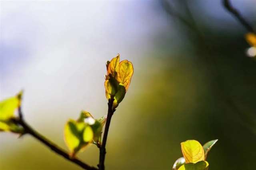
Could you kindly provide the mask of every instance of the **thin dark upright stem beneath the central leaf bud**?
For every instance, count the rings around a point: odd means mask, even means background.
[[[111,117],[114,114],[114,111],[116,110],[116,109],[112,109],[113,102],[114,102],[114,99],[108,100],[108,115],[107,115],[104,135],[103,135],[103,139],[102,139],[102,145],[100,147],[100,160],[99,160],[99,164],[98,164],[98,167],[100,170],[105,170],[104,162],[105,162],[105,155],[106,155],[106,143],[107,143],[107,137],[108,137],[108,129],[110,126]]]

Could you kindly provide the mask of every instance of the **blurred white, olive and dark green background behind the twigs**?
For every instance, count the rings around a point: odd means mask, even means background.
[[[231,0],[252,25],[255,0]],[[171,170],[180,142],[204,144],[210,170],[252,170],[256,60],[221,0],[0,1],[0,100],[24,89],[26,121],[66,148],[82,109],[107,112],[105,61],[134,75],[110,125],[106,170]],[[0,133],[1,170],[80,170],[29,135]],[[90,146],[78,157],[98,163]]]

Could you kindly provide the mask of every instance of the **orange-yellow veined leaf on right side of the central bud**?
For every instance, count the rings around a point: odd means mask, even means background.
[[[126,91],[128,90],[128,87],[130,85],[132,74],[132,63],[128,60],[121,61],[118,66],[117,81],[124,85]]]

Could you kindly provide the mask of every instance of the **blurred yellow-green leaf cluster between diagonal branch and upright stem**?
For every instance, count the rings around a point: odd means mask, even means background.
[[[64,127],[64,139],[73,157],[93,140],[93,131],[88,123],[70,119]]]

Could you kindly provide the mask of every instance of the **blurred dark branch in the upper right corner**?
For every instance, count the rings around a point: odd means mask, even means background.
[[[256,33],[253,27],[250,25],[250,23],[246,21],[246,19],[242,17],[242,15],[238,12],[238,10],[236,10],[231,5],[229,0],[223,0],[222,2],[226,10],[228,10],[231,14],[233,14],[233,16],[247,29],[247,31]]]

